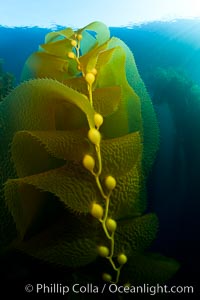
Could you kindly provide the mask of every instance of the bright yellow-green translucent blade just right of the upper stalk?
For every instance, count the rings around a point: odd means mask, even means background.
[[[107,86],[121,87],[121,101],[118,109],[112,115],[105,117],[101,127],[103,135],[111,138],[141,130],[142,119],[140,99],[126,79],[125,51],[122,47],[118,47],[114,38],[111,38],[108,42],[109,49],[114,49],[109,61],[102,66],[101,61],[98,62],[101,67],[96,77],[95,87],[96,89]],[[116,126],[116,124],[120,124],[120,126]]]

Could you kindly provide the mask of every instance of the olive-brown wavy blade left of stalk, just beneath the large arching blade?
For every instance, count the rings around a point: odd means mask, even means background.
[[[90,145],[87,132],[18,131],[12,142],[12,158],[19,177],[55,169],[65,160],[82,161]]]

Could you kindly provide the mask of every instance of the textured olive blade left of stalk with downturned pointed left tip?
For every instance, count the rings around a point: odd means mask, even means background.
[[[52,193],[66,207],[78,213],[90,212],[91,203],[99,195],[93,176],[72,162],[37,175],[9,179],[5,184],[5,200],[19,230],[23,229],[23,218],[27,218],[27,215],[23,217],[23,199],[30,198],[29,193],[32,193],[33,187]],[[33,196],[33,205],[34,199]]]

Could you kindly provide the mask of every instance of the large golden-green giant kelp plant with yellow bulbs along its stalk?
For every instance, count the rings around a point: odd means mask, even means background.
[[[145,252],[158,230],[145,213],[158,127],[129,48],[100,22],[51,32],[22,81],[0,106],[2,248],[80,281],[90,264],[90,282],[167,281],[178,263]]]

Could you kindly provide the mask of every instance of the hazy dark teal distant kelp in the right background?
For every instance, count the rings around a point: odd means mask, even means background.
[[[169,141],[168,144],[173,147],[173,156],[171,162],[168,159],[170,173],[169,180],[165,181],[171,183],[171,191],[168,190],[169,195],[171,193],[176,195],[176,203],[180,201],[181,204],[181,209],[180,205],[177,205],[178,211],[182,214],[179,216],[179,239],[182,237],[183,240],[185,236],[188,236],[189,227],[185,222],[187,215],[188,220],[193,220],[189,222],[190,240],[196,241],[199,228],[197,222],[200,199],[200,86],[188,76],[184,69],[175,67],[156,68],[147,77],[147,84],[156,108],[159,110],[165,105],[172,117],[171,136],[173,140]],[[170,124],[168,120],[164,122]],[[163,141],[167,140],[164,135],[162,138]],[[159,166],[162,169],[164,168],[164,160],[166,157],[161,154]],[[158,201],[159,198],[158,195]],[[172,197],[171,199],[173,202]],[[169,203],[169,199],[166,201]],[[166,214],[166,211],[163,213]],[[176,214],[176,222],[177,220]]]

